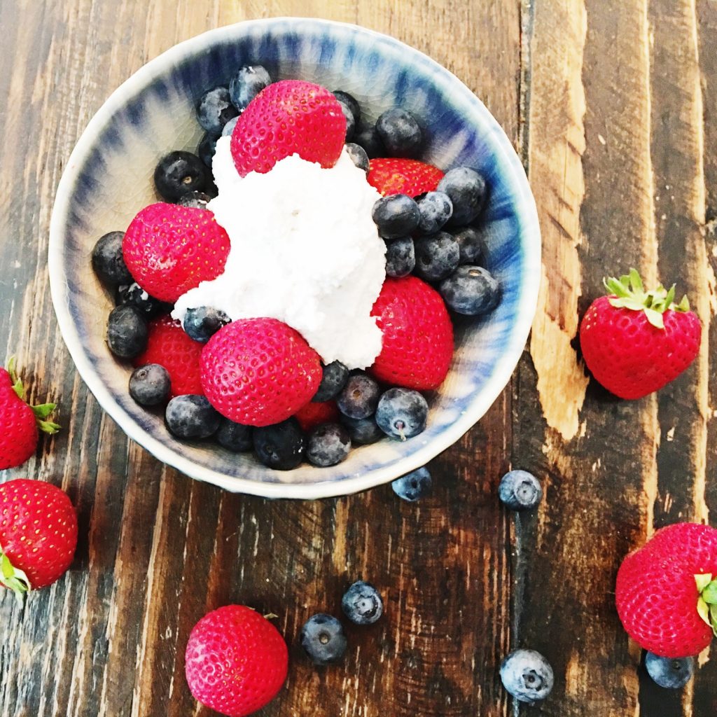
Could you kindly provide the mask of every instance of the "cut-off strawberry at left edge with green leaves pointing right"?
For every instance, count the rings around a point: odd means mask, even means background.
[[[45,419],[55,404],[29,406],[22,381],[10,359],[8,371],[0,369],[0,470],[22,465],[37,448],[39,431],[57,433],[56,423]]]

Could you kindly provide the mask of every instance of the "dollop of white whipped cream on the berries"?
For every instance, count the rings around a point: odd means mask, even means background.
[[[370,366],[381,351],[371,308],[386,276],[386,247],[371,219],[381,195],[346,150],[328,169],[295,154],[242,178],[230,142],[217,141],[219,196],[207,205],[229,234],[227,264],[182,295],[172,316],[212,306],[232,320],[276,318],[325,364]]]

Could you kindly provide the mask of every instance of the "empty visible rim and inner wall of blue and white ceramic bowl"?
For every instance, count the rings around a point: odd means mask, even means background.
[[[130,398],[130,368],[115,361],[105,344],[113,303],[90,269],[93,245],[157,201],[151,177],[158,158],[173,149],[194,151],[201,137],[196,98],[246,64],[265,65],[275,80],[298,78],[351,92],[371,120],[394,106],[412,110],[427,125],[426,161],[444,170],[473,166],[490,184],[485,221],[489,268],[503,290],[500,305],[487,318],[460,322],[450,374],[429,397],[429,423],[421,435],[358,447],[330,468],[275,471],[248,454],[174,440],[161,416]],[[523,351],[536,308],[540,250],[523,167],[498,123],[460,80],[391,37],[336,22],[280,18],[182,42],[113,92],[82,133],[57,189],[49,273],[57,320],[77,370],[133,440],[192,478],[227,490],[322,498],[371,488],[424,465],[483,416]]]

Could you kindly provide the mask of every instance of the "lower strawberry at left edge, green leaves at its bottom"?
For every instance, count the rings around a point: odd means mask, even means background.
[[[67,493],[42,480],[0,485],[0,584],[18,597],[47,587],[70,567],[77,515]]]

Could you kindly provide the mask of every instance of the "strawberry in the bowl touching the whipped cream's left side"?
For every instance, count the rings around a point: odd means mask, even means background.
[[[229,236],[212,212],[160,201],[132,220],[122,252],[131,275],[149,295],[174,302],[224,271]]]

